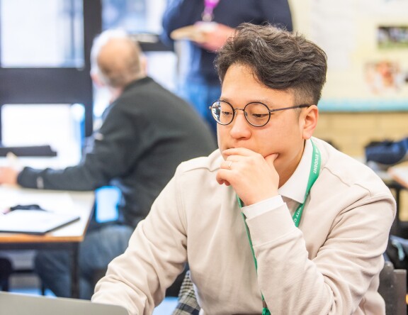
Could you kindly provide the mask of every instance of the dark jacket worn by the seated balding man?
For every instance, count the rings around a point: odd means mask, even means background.
[[[79,165],[18,175],[23,187],[93,190],[112,184],[122,192],[119,222],[130,226],[147,216],[177,165],[208,155],[214,136],[194,109],[153,79],[132,82],[109,106],[94,145]]]

